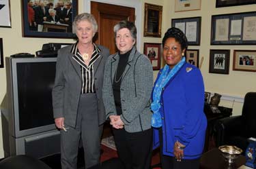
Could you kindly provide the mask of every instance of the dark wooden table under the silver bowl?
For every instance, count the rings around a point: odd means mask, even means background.
[[[221,151],[217,148],[203,153],[200,159],[200,169],[237,169],[244,165],[246,158],[243,155],[238,156],[235,162],[229,164]]]

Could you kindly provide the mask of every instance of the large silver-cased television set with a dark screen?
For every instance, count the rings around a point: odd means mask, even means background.
[[[51,96],[56,60],[5,58],[7,113],[2,111],[2,114],[7,116],[12,137],[20,138],[56,129]]]

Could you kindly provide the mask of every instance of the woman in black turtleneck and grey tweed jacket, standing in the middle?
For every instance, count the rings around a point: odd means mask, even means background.
[[[152,152],[152,64],[134,47],[137,29],[132,22],[119,22],[114,32],[119,51],[106,61],[102,88],[106,118],[113,126],[117,153],[125,168],[148,169]]]

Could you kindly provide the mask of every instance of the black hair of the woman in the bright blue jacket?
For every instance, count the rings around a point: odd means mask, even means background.
[[[162,46],[165,45],[165,41],[169,38],[173,37],[175,41],[179,42],[182,50],[186,50],[188,48],[188,39],[186,39],[186,35],[175,27],[169,28],[165,33],[165,36],[162,38]]]

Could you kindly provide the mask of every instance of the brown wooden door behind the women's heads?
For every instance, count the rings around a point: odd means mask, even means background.
[[[113,27],[121,20],[135,21],[135,9],[108,3],[91,1],[91,14],[98,22],[98,33],[95,36],[95,43],[109,48],[111,54],[117,52],[115,46],[115,34]]]

